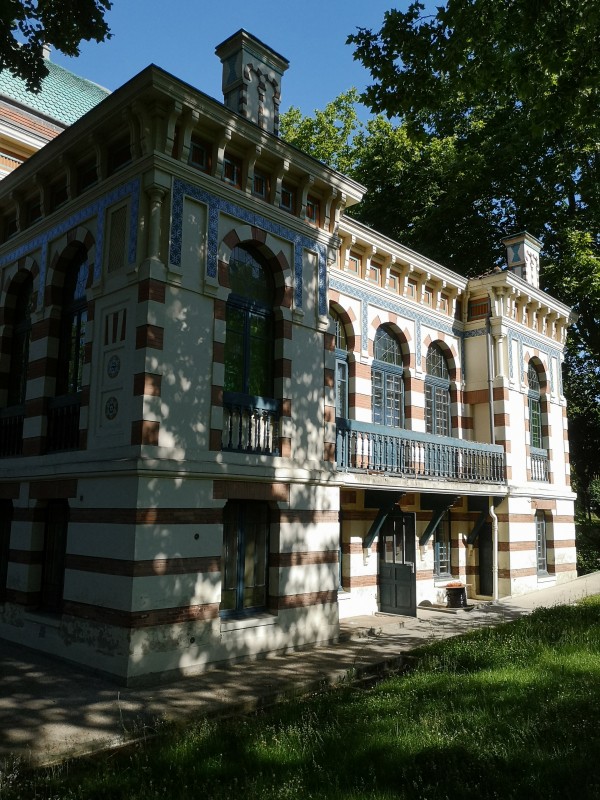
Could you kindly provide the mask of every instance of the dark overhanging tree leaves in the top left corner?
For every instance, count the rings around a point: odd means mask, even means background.
[[[0,71],[39,91],[48,74],[44,45],[79,55],[82,40],[103,42],[111,34],[104,19],[111,0],[3,0],[0,3]]]

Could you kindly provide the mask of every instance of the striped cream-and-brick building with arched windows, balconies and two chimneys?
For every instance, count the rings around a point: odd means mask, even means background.
[[[285,59],[217,53],[225,105],[150,66],[0,186],[0,635],[128,684],[576,574],[539,243],[348,219]]]

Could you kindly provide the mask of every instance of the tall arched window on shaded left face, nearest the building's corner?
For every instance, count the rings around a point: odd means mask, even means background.
[[[80,246],[71,257],[63,284],[56,390],[48,404],[48,452],[79,447],[88,275],[87,251]]]

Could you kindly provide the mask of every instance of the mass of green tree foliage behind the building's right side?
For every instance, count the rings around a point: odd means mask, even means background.
[[[367,188],[350,213],[467,276],[505,262],[504,236],[541,239],[542,288],[578,315],[564,385],[580,487],[600,474],[599,40],[597,0],[413,2],[348,38],[378,115],[344,153]]]

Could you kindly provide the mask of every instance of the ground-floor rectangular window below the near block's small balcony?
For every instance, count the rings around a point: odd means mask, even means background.
[[[223,511],[222,615],[238,615],[266,607],[268,562],[268,505],[252,500],[230,500]]]

